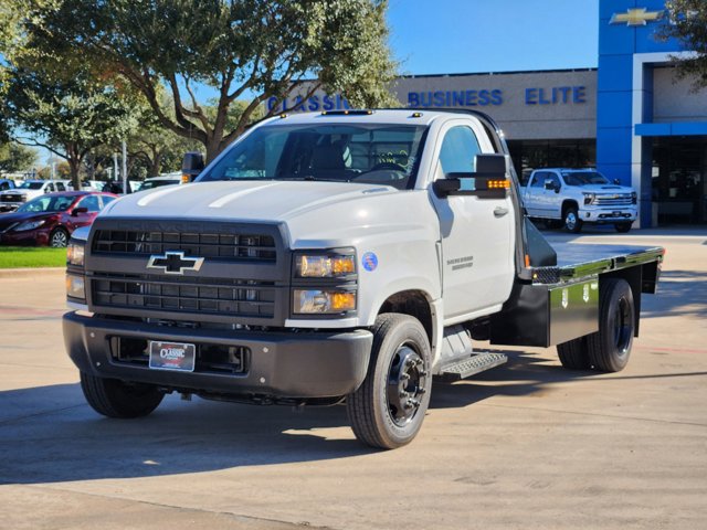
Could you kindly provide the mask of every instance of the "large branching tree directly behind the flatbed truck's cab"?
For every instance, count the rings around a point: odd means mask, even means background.
[[[42,21],[31,25],[40,50],[117,72],[163,127],[201,142],[211,161],[271,97],[324,88],[355,106],[392,104],[387,7],[387,0],[65,0],[30,18]],[[196,85],[215,89],[213,116]],[[170,92],[171,109],[160,102],[160,86]],[[239,98],[246,104],[229,127]]]

